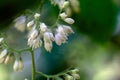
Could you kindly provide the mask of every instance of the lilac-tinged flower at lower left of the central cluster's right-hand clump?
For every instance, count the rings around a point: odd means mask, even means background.
[[[56,33],[55,34],[55,42],[57,45],[61,45],[62,43],[65,43],[67,40],[66,35],[60,34],[60,33]]]

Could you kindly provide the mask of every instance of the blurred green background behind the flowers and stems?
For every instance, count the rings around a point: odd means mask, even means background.
[[[16,49],[27,47],[26,32],[17,31],[12,20],[22,14],[25,9],[30,8],[36,11],[40,3],[39,0],[26,0],[23,5],[17,6],[19,2],[21,1],[0,1],[0,4],[3,5],[0,6],[0,10],[2,9],[1,16],[3,16],[0,19],[1,32],[7,34],[6,38],[10,46]],[[32,2],[34,3],[32,4]],[[68,43],[62,46],[57,46],[54,43],[51,53],[47,53],[43,47],[36,49],[37,70],[46,74],[56,74],[70,66],[77,66],[80,68],[80,80],[119,80],[120,1],[79,0],[79,3],[80,13],[73,13],[72,15],[75,20],[75,24],[72,25],[75,34],[69,36]],[[15,13],[8,12],[9,17],[5,18],[6,5],[14,5],[16,8],[20,8],[20,12],[15,8]],[[9,10],[13,10],[13,7]],[[57,6],[51,5],[48,0],[45,0],[41,20],[47,25],[52,25],[56,20],[58,11]],[[31,56],[25,53],[22,54],[22,58],[25,65],[22,72],[13,72],[13,64],[1,64],[0,80],[16,80],[16,78],[17,80],[24,80],[25,78],[30,80]],[[36,76],[36,80],[44,79]]]

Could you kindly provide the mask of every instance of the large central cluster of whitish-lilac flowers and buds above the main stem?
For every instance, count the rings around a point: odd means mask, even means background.
[[[59,16],[61,16],[68,24],[74,23],[72,18],[67,18],[67,16],[63,18],[63,13]],[[56,32],[52,32],[52,29],[48,28],[45,23],[40,22],[39,19],[40,14],[36,13],[34,19],[27,24],[27,27],[30,30],[28,34],[28,45],[32,47],[32,49],[41,47],[44,42],[46,51],[50,52],[53,47],[53,41],[55,41],[57,45],[61,45],[66,42],[69,34],[74,33],[70,26],[63,24],[57,24],[56,26],[58,26],[58,28],[56,29]]]

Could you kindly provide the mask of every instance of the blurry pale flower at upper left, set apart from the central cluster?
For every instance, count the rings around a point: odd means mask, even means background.
[[[26,27],[26,17],[25,16],[20,16],[17,19],[14,20],[15,21],[15,25],[14,27],[21,31],[24,32],[25,31],[25,27]]]

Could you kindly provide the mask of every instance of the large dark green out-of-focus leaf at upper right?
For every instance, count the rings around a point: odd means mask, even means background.
[[[112,0],[80,0],[81,13],[74,15],[77,30],[93,40],[105,42],[113,34],[117,7]]]

